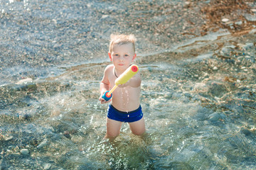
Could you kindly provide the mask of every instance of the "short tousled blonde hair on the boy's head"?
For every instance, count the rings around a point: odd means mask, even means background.
[[[129,43],[132,43],[132,47],[135,52],[135,42],[136,42],[136,38],[133,34],[130,34],[130,35],[112,34],[110,35],[110,53],[112,53],[114,45],[125,45]]]

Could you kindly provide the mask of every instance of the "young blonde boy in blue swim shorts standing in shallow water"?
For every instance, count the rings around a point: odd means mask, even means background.
[[[140,106],[139,96],[141,91],[140,73],[134,75],[126,84],[120,84],[112,93],[110,101],[105,101],[102,95],[114,86],[114,81],[134,61],[135,41],[134,35],[111,35],[110,51],[108,55],[112,64],[105,69],[103,79],[100,83],[100,102],[111,101],[107,112],[107,134],[105,138],[114,140],[120,133],[123,122],[129,123],[134,135],[142,135],[145,132],[145,124]]]

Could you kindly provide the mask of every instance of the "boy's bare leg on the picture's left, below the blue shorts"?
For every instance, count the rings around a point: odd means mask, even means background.
[[[121,125],[122,122],[107,118],[107,133],[105,138],[114,140],[120,134]]]

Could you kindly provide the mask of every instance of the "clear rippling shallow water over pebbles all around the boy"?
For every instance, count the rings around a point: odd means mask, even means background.
[[[218,25],[214,2],[1,1],[0,169],[255,169],[256,4]],[[138,38],[146,134],[110,143],[114,32]]]

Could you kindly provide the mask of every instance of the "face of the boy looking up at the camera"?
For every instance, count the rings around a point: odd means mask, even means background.
[[[136,54],[134,53],[132,43],[129,43],[114,45],[112,52],[109,52],[109,57],[116,69],[125,70],[132,64]]]

